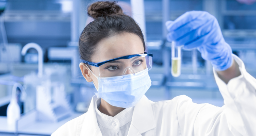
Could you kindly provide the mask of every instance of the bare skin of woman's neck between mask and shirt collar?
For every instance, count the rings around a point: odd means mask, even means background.
[[[109,115],[109,116],[116,116],[118,113],[122,112],[125,108],[121,108],[121,107],[115,107],[110,105],[108,102],[106,102],[105,100],[103,100],[101,98],[101,102],[100,102],[100,107],[99,107],[99,111],[103,114]]]

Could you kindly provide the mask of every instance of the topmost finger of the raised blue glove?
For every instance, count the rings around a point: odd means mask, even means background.
[[[189,11],[189,12],[186,12],[183,15],[181,15],[180,17],[178,17],[177,19],[175,19],[172,23],[166,23],[167,30],[169,32],[171,32],[171,31],[174,31],[178,28],[181,28],[184,25],[186,25],[187,23],[189,23],[190,21],[193,21],[198,16],[200,16],[202,14],[205,14],[205,13],[207,13],[207,12],[204,12],[204,11]]]

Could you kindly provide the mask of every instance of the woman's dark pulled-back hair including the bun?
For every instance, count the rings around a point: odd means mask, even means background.
[[[91,61],[91,56],[97,49],[97,44],[103,38],[127,32],[138,35],[145,42],[138,24],[123,13],[117,1],[98,1],[88,6],[88,15],[94,19],[83,30],[79,38],[80,58]]]

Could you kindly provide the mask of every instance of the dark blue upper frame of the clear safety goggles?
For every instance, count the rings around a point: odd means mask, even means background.
[[[107,61],[99,62],[99,63],[89,62],[89,61],[85,61],[85,60],[81,60],[81,59],[80,59],[80,61],[82,63],[84,63],[84,64],[88,64],[88,65],[91,65],[91,66],[99,67],[99,66],[101,66],[101,65],[103,65],[105,63],[111,62],[111,61],[116,61],[116,60],[120,60],[120,59],[129,59],[129,58],[136,57],[136,56],[151,56],[151,57],[153,57],[153,54],[152,53],[144,52],[144,54],[127,55],[127,56],[117,57],[117,58],[113,58],[111,60],[107,60]]]

